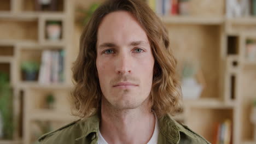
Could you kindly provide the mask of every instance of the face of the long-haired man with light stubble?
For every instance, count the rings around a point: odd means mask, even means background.
[[[102,103],[135,109],[148,100],[154,57],[146,32],[130,13],[116,11],[103,18],[96,49]]]

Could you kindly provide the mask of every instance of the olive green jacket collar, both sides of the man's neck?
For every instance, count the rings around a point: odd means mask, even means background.
[[[191,132],[184,128],[183,125],[176,122],[171,118],[170,115],[164,115],[161,118],[158,118],[159,121],[159,130],[166,139],[173,144],[176,144],[181,139],[181,133],[196,139],[196,137],[191,134]],[[94,140],[97,136],[97,133],[100,128],[100,113],[96,112],[94,115],[89,118],[83,119],[79,122],[79,127],[81,128],[82,135],[77,137],[75,141],[80,139],[88,138]]]

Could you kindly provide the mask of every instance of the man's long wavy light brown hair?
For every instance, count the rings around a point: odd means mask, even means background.
[[[176,75],[177,61],[173,56],[168,33],[158,16],[141,0],[109,0],[98,7],[80,37],[80,50],[74,62],[72,103],[80,118],[100,110],[103,96],[96,69],[97,30],[109,13],[125,10],[132,14],[147,33],[155,59],[151,90],[152,110],[159,117],[173,115],[181,104],[181,85]]]

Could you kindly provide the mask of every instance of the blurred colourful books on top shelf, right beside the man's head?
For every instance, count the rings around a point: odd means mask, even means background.
[[[178,0],[148,0],[148,4],[158,15],[178,14]]]

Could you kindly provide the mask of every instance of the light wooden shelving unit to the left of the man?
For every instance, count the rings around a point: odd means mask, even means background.
[[[4,0],[0,4],[0,71],[10,75],[15,125],[13,139],[0,139],[1,144],[33,143],[42,135],[40,133],[45,133],[38,129],[38,121],[54,123],[53,128],[57,128],[76,119],[71,116],[68,104],[72,88],[69,52],[72,51],[73,1],[58,1],[56,11],[38,11],[35,2]],[[48,21],[60,21],[60,40],[53,41],[46,37]],[[33,60],[42,63],[45,50],[65,51],[64,81],[49,84],[39,83],[38,80],[25,81],[21,62]],[[53,110],[44,106],[45,95],[49,93],[56,100]]]

